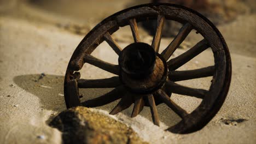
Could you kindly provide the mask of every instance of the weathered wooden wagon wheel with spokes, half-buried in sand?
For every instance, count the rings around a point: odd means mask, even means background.
[[[157,20],[156,33],[151,45],[141,43],[137,22],[147,19]],[[160,54],[161,29],[165,20],[183,24],[173,41]],[[112,34],[130,25],[135,43],[124,49],[112,38]],[[173,52],[192,29],[202,35],[203,40],[187,52],[169,60]],[[110,64],[91,56],[96,47],[107,41],[119,55],[119,65]],[[211,48],[214,65],[209,67],[177,71],[179,67]],[[107,79],[80,79],[78,70],[84,63],[95,65],[117,76]],[[213,76],[210,89],[185,87],[176,81]],[[135,103],[132,117],[149,106],[153,122],[159,125],[156,105],[165,103],[182,118],[167,130],[173,133],[191,133],[204,127],[222,106],[229,90],[231,80],[231,59],[228,47],[218,29],[205,17],[194,10],[174,4],[144,4],[122,10],[99,23],[75,49],[65,76],[64,93],[67,108],[73,106],[95,107],[121,99],[110,112],[114,115]],[[80,102],[79,88],[114,88],[101,97]],[[201,104],[191,113],[186,112],[171,99],[171,93],[201,98]]]

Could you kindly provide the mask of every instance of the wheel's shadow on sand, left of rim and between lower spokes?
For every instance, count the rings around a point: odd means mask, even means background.
[[[40,100],[40,107],[42,109],[53,110],[61,112],[66,110],[65,99],[63,95],[64,76],[60,75],[44,75],[44,74],[30,74],[20,75],[14,77],[14,82],[17,86],[25,89],[25,91],[35,95]],[[86,88],[79,89],[79,93],[83,95],[81,101],[93,99],[103,95],[113,88]],[[95,107],[96,109],[110,112],[119,100],[110,104]],[[133,104],[126,110],[122,111],[124,115],[130,117],[133,109]],[[164,104],[157,106],[160,121],[168,126],[174,125],[181,120],[176,113]],[[152,121],[149,107],[144,107],[141,113],[142,117]]]

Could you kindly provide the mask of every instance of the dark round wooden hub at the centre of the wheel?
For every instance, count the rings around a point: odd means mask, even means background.
[[[120,80],[132,92],[152,93],[167,79],[167,64],[146,43],[133,43],[119,55]]]

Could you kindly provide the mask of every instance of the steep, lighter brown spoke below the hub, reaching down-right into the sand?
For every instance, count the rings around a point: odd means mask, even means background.
[[[153,122],[155,125],[160,125],[159,122],[159,117],[158,117],[158,110],[156,110],[156,106],[155,106],[155,100],[152,94],[148,94],[147,95],[147,99],[148,99],[148,104],[150,107],[150,111],[152,113],[152,118],[153,118]]]

